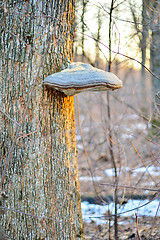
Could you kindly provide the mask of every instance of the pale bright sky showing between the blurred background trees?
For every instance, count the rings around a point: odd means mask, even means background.
[[[134,34],[134,24],[132,23],[132,16],[130,13],[129,8],[129,0],[116,0],[115,6],[121,3],[114,11],[113,11],[113,23],[112,23],[112,50],[115,52],[120,52],[130,57],[136,58],[137,60],[141,60],[141,54],[138,49],[138,37],[133,38]],[[131,0],[133,6],[134,1]],[[137,3],[138,2],[138,3]],[[105,4],[105,7],[103,7]],[[101,28],[101,42],[109,46],[108,42],[108,33],[109,33],[109,14],[110,11],[110,4],[111,0],[90,0],[87,4],[87,11],[85,14],[85,24],[87,25],[88,29],[86,29],[85,34],[89,36],[96,36],[98,24],[97,24],[97,13],[98,9],[100,9],[100,16],[101,20],[103,21],[102,28]],[[135,6],[136,16],[141,21],[141,1],[136,1],[137,6]],[[80,16],[82,13],[82,6],[77,6],[77,35],[78,41],[81,39],[81,22]],[[139,25],[139,27],[141,27]],[[101,53],[101,58],[105,59],[108,58],[108,49],[102,44],[100,44],[100,48],[103,52]],[[81,48],[79,48],[79,52]],[[88,36],[86,36],[85,41],[85,51],[86,53],[94,59],[95,55],[95,41]],[[105,56],[105,57],[104,57]],[[115,57],[115,54],[112,53],[112,59]],[[126,60],[124,57],[118,56],[120,61]],[[141,65],[129,61],[130,66],[141,68]]]

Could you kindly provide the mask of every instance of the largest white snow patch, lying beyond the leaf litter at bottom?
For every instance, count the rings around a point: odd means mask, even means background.
[[[122,206],[118,205],[118,214],[123,217],[135,216],[160,216],[160,201],[154,200],[150,202],[146,200],[129,200]],[[97,225],[106,223],[104,216],[110,211],[110,214],[114,214],[114,203],[109,205],[90,204],[87,201],[82,202],[82,217],[84,222],[90,223],[94,221]],[[135,209],[136,208],[136,209]],[[138,208],[138,209],[137,209]],[[112,223],[111,223],[112,224]]]

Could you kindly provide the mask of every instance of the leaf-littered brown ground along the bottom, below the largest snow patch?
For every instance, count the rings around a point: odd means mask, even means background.
[[[138,218],[138,227],[136,219],[133,217],[122,217],[118,221],[120,222],[118,224],[119,240],[160,239],[160,217],[156,219],[155,217],[140,217]],[[109,233],[109,226],[107,224],[96,225],[95,223],[85,223],[85,238],[86,240],[115,239],[114,226],[110,228]]]

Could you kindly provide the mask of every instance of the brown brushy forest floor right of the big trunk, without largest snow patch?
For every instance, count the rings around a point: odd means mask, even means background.
[[[129,199],[159,200],[160,128],[153,127],[150,121],[150,80],[146,78],[148,97],[145,102],[147,113],[144,114],[140,110],[140,72],[127,71],[125,75],[119,72],[124,87],[110,93],[110,120],[106,93],[79,94],[76,136],[82,201],[102,204],[114,199],[114,165],[117,168],[117,185],[121,186],[117,190],[119,205],[125,204]],[[77,104],[77,98],[75,103]],[[113,136],[114,164],[110,152],[109,128]],[[156,210],[158,211],[158,206]],[[86,239],[115,239],[113,220],[112,217],[110,227],[108,221],[106,224],[84,222]],[[159,216],[138,216],[138,211],[133,211],[127,217],[123,214],[118,216],[120,240],[158,240],[159,226]]]

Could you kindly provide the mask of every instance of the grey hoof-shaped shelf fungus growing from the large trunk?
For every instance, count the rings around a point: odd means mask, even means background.
[[[82,62],[72,62],[65,70],[46,77],[44,85],[67,96],[85,91],[115,90],[123,86],[122,81],[113,73]]]

